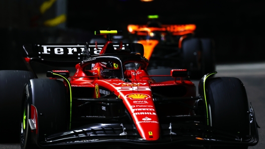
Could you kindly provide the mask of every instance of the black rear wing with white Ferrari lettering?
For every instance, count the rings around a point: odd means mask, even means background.
[[[119,48],[119,43],[112,43],[114,49]],[[27,62],[38,61],[47,65],[67,66],[70,63],[79,63],[84,58],[100,53],[104,43],[89,44],[25,44],[23,56]],[[86,52],[83,52],[87,50]],[[115,50],[114,50],[115,52]],[[118,53],[140,53],[144,55],[144,47],[140,43],[123,43]],[[50,62],[48,62],[50,61]],[[64,64],[63,64],[64,63]]]

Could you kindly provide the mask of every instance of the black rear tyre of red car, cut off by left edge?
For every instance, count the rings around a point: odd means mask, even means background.
[[[0,70],[0,142],[19,141],[23,88],[31,78],[30,71]]]

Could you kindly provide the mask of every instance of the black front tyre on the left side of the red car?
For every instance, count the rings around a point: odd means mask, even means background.
[[[34,105],[38,113],[38,137],[32,135],[36,137],[33,138],[35,143],[44,141],[51,134],[69,129],[70,103],[62,81],[48,78],[31,79],[26,87],[28,104]]]

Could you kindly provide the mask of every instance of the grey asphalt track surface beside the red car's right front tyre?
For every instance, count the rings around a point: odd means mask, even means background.
[[[231,76],[239,78],[246,89],[248,101],[251,102],[258,128],[259,142],[255,146],[248,148],[265,148],[265,62],[244,63],[244,64],[219,64],[216,66],[219,76]],[[193,80],[198,86],[198,80]],[[16,143],[0,143],[1,149],[16,149],[20,148],[20,144]],[[185,147],[186,148],[186,147]],[[201,148],[201,147],[200,147]]]

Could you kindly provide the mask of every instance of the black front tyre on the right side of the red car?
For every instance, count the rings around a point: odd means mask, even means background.
[[[209,125],[245,137],[250,133],[247,95],[235,77],[209,78],[205,83]],[[220,146],[212,146],[218,148]],[[223,146],[224,147],[224,146]],[[247,148],[247,146],[230,146]]]

